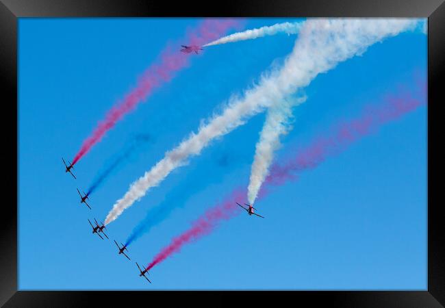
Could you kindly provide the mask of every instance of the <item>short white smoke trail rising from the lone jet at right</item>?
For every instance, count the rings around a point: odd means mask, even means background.
[[[263,129],[259,133],[259,141],[255,146],[255,157],[251,167],[251,178],[247,188],[247,198],[253,205],[259,188],[268,175],[270,164],[275,151],[281,146],[280,136],[291,129],[292,107],[306,101],[306,97],[299,99],[285,99],[269,107]]]

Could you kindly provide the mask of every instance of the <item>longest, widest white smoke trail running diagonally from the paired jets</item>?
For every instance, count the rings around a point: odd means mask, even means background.
[[[123,198],[114,203],[105,224],[115,220],[127,207],[142,198],[147,191],[167,177],[192,155],[215,138],[242,125],[247,118],[262,112],[273,103],[283,101],[296,89],[307,86],[318,74],[335,67],[339,62],[360,55],[367,47],[388,36],[396,36],[409,27],[414,19],[313,19],[301,28],[294,49],[281,68],[263,75],[259,84],[246,90],[242,98],[232,98],[222,114],[201,125],[175,149],[168,151],[151,170],[130,185]]]

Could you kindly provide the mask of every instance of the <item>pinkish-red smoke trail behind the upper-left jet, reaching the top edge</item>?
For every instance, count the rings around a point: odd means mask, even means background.
[[[153,89],[170,81],[174,73],[188,66],[189,57],[194,54],[181,53],[179,51],[180,44],[197,44],[201,46],[206,42],[219,38],[231,27],[238,26],[239,22],[233,19],[207,19],[197,29],[189,30],[186,38],[181,40],[179,44],[175,44],[174,47],[171,45],[166,47],[160,55],[159,63],[150,66],[140,76],[136,87],[107,112],[105,119],[99,122],[96,129],[84,141],[73,159],[73,165],[88,153],[92,146],[97,144],[105,136],[105,133],[116,125],[118,120],[121,120],[125,114],[134,110],[138,103],[147,100]]]

